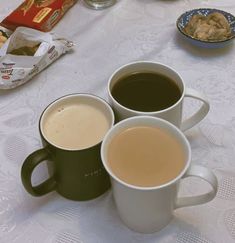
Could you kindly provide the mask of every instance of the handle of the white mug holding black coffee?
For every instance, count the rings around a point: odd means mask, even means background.
[[[210,105],[206,97],[194,89],[186,88],[185,97],[200,100],[203,102],[203,104],[197,112],[182,122],[180,127],[182,131],[185,131],[199,123],[207,115],[210,109]]]

